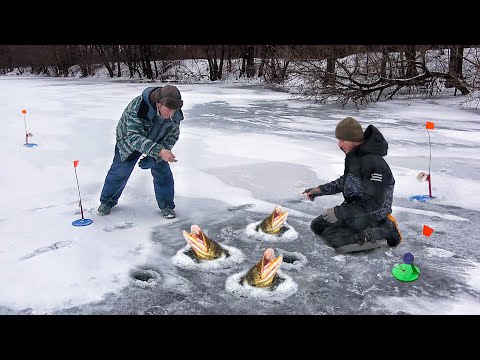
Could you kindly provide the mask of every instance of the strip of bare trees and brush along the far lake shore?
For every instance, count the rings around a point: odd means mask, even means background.
[[[110,77],[115,68],[120,77],[126,64],[130,77],[164,81],[179,59],[206,59],[211,81],[224,71],[252,77],[258,70],[267,86],[360,106],[398,96],[435,97],[449,88],[464,96],[473,91],[475,99],[478,51],[477,45],[7,45],[0,46],[0,73],[29,65],[35,74],[70,76],[77,65],[90,76],[103,64]],[[233,66],[236,59],[240,68]],[[197,76],[206,76],[200,67]]]

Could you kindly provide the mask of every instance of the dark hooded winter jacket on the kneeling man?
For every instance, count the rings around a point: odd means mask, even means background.
[[[395,179],[383,156],[388,144],[378,129],[369,125],[364,143],[345,157],[343,176],[320,185],[321,195],[343,193],[345,201],[335,207],[339,220],[374,215],[381,221],[392,212]]]

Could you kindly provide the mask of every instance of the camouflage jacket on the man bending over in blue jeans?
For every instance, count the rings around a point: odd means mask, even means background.
[[[150,93],[156,88],[152,86],[143,90],[142,95],[135,97],[120,117],[116,128],[116,140],[122,161],[135,151],[161,160],[158,156],[160,150],[171,150],[178,140],[183,112],[178,109],[171,119],[159,117],[155,103],[149,100]],[[154,127],[155,136],[152,136],[151,131]]]

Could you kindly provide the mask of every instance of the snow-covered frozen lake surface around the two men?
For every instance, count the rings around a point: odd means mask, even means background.
[[[178,162],[171,165],[178,217],[161,217],[150,172],[138,167],[119,205],[99,216],[116,124],[147,86],[0,77],[0,313],[148,313],[160,305],[173,314],[480,313],[480,111],[460,107],[461,97],[357,110],[293,100],[261,86],[178,84],[185,104],[172,150]],[[389,143],[393,215],[405,237],[395,249],[338,256],[309,230],[315,216],[342,201],[334,195],[310,202],[301,192],[343,173],[344,154],[333,135],[346,116],[364,128],[374,124]],[[428,193],[427,183],[416,179],[428,171],[426,121],[435,122],[435,198],[418,203],[409,197]],[[38,146],[24,146],[25,124],[34,135],[29,142]],[[93,220],[84,227],[72,226],[81,218],[74,160],[84,216]],[[252,230],[276,205],[289,211],[286,237]],[[185,257],[181,230],[192,224],[230,249],[228,261],[200,266]],[[428,239],[423,224],[435,230]],[[277,245],[297,254],[301,268],[281,266],[283,280],[273,291],[240,285],[262,252]],[[416,283],[390,274],[406,251],[421,260]],[[150,280],[132,276],[139,271]],[[176,300],[179,294],[183,300]]]

